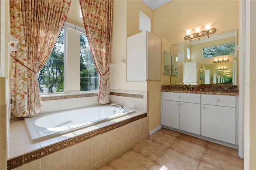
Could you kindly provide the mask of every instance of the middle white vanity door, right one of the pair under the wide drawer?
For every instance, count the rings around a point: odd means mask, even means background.
[[[200,104],[180,102],[180,130],[200,135]]]

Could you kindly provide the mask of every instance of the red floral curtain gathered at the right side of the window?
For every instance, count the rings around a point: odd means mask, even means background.
[[[80,0],[92,57],[100,74],[99,103],[110,102],[110,38],[113,0]]]

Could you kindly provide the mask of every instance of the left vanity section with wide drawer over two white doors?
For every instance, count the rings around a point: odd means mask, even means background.
[[[162,92],[162,125],[200,134],[200,94]]]

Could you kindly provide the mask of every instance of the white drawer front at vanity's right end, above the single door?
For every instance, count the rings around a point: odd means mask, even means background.
[[[202,104],[236,107],[236,96],[202,94]]]

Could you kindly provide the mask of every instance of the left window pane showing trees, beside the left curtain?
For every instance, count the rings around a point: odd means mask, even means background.
[[[64,92],[65,32],[66,30],[62,29],[50,57],[38,73],[41,93]]]

